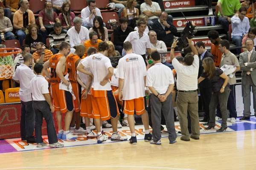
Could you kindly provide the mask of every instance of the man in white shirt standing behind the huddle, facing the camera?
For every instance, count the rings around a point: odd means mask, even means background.
[[[145,21],[140,20],[138,22],[138,31],[132,31],[125,41],[129,41],[133,47],[133,53],[141,55],[146,62],[146,55],[145,51],[147,51],[148,55],[151,54],[150,48],[150,41],[148,34],[145,34],[145,28],[147,23]],[[124,41],[124,42],[125,42]]]

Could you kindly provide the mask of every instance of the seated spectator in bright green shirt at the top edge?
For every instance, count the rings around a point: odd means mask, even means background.
[[[238,13],[241,4],[239,0],[218,0],[218,21],[221,23],[225,31],[228,31],[231,23],[231,17]]]

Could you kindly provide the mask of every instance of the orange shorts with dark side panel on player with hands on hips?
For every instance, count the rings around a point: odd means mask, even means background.
[[[118,106],[112,91],[94,91],[91,88],[93,118],[108,120],[119,116]]]

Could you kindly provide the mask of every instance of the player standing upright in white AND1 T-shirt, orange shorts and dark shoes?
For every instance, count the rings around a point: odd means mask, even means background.
[[[137,115],[142,115],[145,127],[144,141],[150,142],[152,134],[149,132],[148,112],[145,111],[146,65],[142,56],[132,52],[131,42],[124,42],[123,47],[126,55],[119,59],[116,77],[119,77],[119,100],[123,100],[122,112],[128,115],[131,130],[129,142],[137,144],[134,111]]]

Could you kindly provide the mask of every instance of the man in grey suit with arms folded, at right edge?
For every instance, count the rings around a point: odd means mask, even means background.
[[[240,120],[250,119],[250,89],[253,88],[253,108],[256,111],[256,51],[253,50],[254,41],[245,41],[247,51],[239,55],[239,65],[242,70],[242,93],[244,99],[244,116]],[[254,116],[256,114],[254,113]]]

